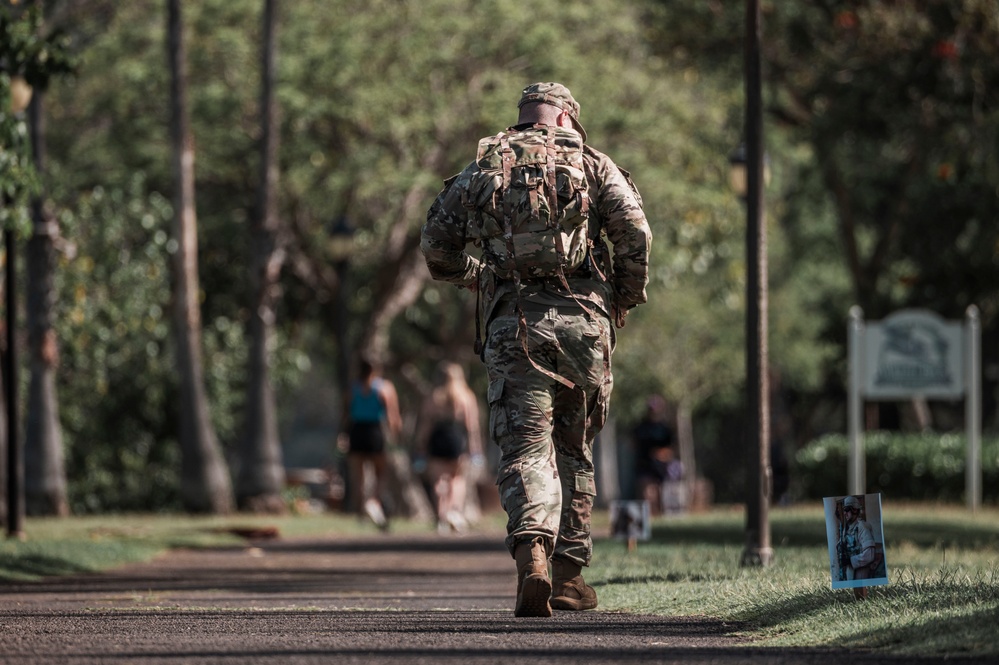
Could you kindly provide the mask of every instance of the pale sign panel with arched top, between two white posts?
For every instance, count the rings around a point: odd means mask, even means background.
[[[868,399],[964,395],[964,357],[960,321],[933,312],[902,310],[869,321],[864,332],[862,392]]]

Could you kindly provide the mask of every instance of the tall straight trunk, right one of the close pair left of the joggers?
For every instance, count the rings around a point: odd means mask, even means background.
[[[278,180],[279,128],[274,98],[275,1],[264,0],[261,67],[260,194],[252,229],[253,306],[250,308],[249,382],[246,396],[246,431],[239,457],[236,499],[241,509],[284,512],[281,490],[284,467],[278,436],[274,391],[270,380],[270,340],[274,336],[274,303],[284,250],[278,237],[275,200]]]

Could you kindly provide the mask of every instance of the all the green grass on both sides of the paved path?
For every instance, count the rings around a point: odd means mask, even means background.
[[[490,517],[493,526],[502,517]],[[658,518],[633,551],[594,515],[587,581],[607,611],[705,615],[739,622],[762,646],[828,646],[919,655],[999,655],[999,509],[883,506],[890,583],[866,600],[830,584],[821,505],[771,512],[774,561],[741,568],[741,508]],[[346,515],[96,516],[28,519],[27,539],[0,541],[0,584],[96,571],[175,547],[244,542],[233,527],[283,537],[371,533]],[[394,532],[428,525],[396,522]]]

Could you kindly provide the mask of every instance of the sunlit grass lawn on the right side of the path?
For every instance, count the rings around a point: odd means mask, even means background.
[[[883,506],[889,584],[831,588],[821,504],[771,512],[774,561],[740,568],[741,509],[663,518],[652,539],[594,546],[601,607],[745,622],[761,645],[999,654],[999,511]],[[590,579],[592,578],[592,580]]]

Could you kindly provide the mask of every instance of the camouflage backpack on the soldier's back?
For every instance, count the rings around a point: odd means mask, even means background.
[[[564,276],[588,250],[589,196],[583,140],[536,125],[479,141],[479,171],[463,203],[467,235],[505,279]]]

